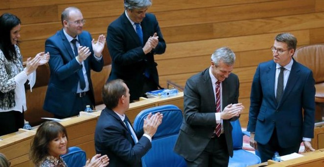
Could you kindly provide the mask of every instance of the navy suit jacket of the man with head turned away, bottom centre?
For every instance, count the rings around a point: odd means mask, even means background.
[[[125,119],[129,121],[127,116]],[[139,139],[143,131],[137,132],[136,135]],[[114,111],[105,108],[96,125],[95,147],[97,154],[109,157],[109,167],[141,167],[141,158],[152,144],[146,137],[141,137],[135,144],[120,117]]]

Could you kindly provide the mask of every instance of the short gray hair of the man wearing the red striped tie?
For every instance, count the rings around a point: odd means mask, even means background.
[[[211,59],[216,66],[218,66],[220,60],[227,65],[233,65],[235,63],[235,54],[228,47],[222,47],[213,53]]]

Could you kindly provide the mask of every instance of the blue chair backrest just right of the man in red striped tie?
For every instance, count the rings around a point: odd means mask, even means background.
[[[232,130],[232,138],[233,138],[233,149],[242,149],[243,147],[243,133],[240,124],[240,120],[231,121],[233,130]]]

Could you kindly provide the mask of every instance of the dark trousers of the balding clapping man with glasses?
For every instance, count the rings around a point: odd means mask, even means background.
[[[71,116],[76,116],[79,115],[80,111],[84,111],[86,105],[90,105],[91,109],[93,107],[93,103],[90,99],[90,93],[91,91],[87,91],[84,96],[80,97],[80,95],[76,95],[77,98],[73,104],[73,110],[70,111],[69,113],[66,113],[66,115],[54,115],[54,118],[57,119],[63,119]],[[69,104],[62,104],[62,105],[69,105]]]

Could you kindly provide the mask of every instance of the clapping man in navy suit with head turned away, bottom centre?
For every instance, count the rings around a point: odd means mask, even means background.
[[[120,79],[109,81],[103,88],[106,108],[97,122],[95,147],[97,154],[108,155],[109,167],[141,167],[141,158],[152,147],[151,139],[162,123],[162,114],[150,113],[144,120],[144,132],[136,133],[125,114],[129,92]]]

